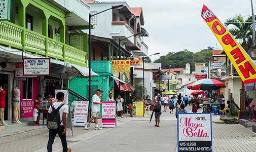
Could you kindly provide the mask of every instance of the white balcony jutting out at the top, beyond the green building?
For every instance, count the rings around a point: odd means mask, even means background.
[[[68,26],[89,25],[90,6],[83,0],[51,0],[50,2],[71,12],[71,17],[66,17]]]

